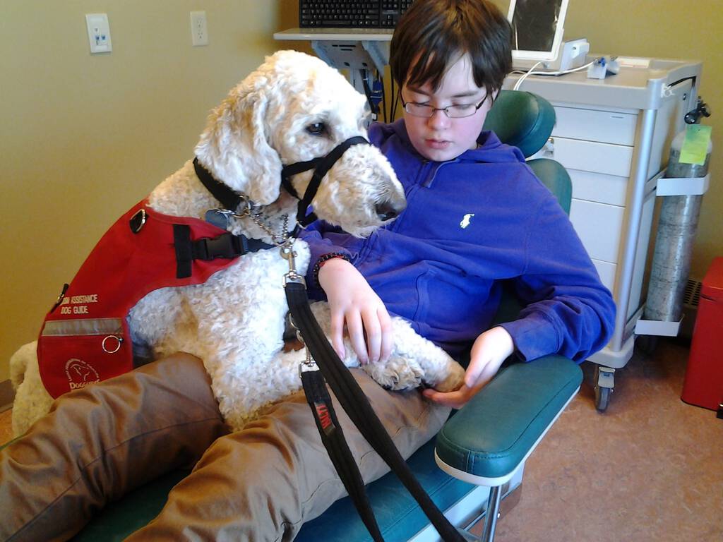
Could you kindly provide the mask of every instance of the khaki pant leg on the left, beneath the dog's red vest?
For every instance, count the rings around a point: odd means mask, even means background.
[[[63,395],[0,451],[0,540],[67,540],[107,502],[192,467],[226,432],[203,364],[187,354]]]

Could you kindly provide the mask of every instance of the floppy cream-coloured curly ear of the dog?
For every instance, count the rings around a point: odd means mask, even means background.
[[[196,156],[218,181],[254,203],[268,205],[279,196],[283,166],[269,145],[268,89],[249,79],[210,114]]]

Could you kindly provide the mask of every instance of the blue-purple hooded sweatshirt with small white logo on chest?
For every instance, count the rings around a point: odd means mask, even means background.
[[[487,330],[510,279],[526,306],[501,324],[524,360],[560,353],[581,362],[609,340],[615,304],[557,199],[517,147],[482,132],[479,146],[432,162],[409,141],[403,119],[372,124],[407,207],[369,238],[317,222],[304,233],[312,259],[310,295],[323,298],[312,269],[341,252],[367,278],[390,314],[449,353]],[[317,288],[317,289],[315,289]]]

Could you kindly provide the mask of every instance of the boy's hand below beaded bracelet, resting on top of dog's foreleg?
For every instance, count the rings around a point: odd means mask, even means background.
[[[391,319],[367,279],[341,258],[327,260],[318,277],[329,300],[331,345],[339,357],[346,356],[346,326],[352,348],[362,364],[386,361],[393,345]]]

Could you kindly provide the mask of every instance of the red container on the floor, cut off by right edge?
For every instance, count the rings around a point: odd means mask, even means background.
[[[693,327],[685,403],[719,410],[723,403],[723,258],[715,258],[701,287],[698,316]]]

